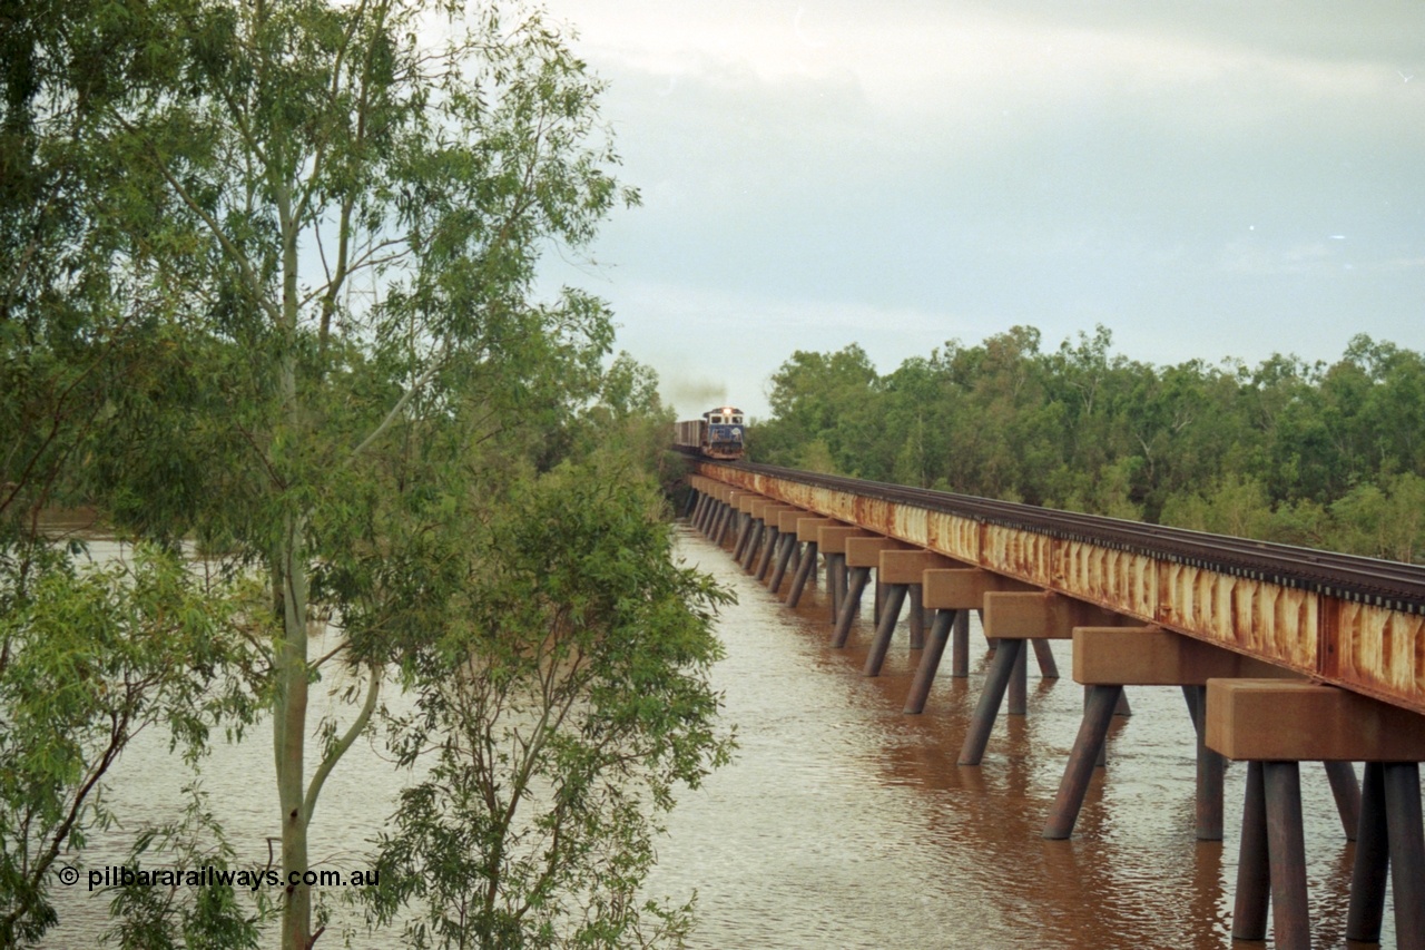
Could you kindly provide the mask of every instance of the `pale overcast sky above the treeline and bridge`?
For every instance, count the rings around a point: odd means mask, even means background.
[[[643,207],[594,265],[680,417],[1015,324],[1174,364],[1425,349],[1425,3],[547,0]],[[1418,76],[1416,76],[1418,74]]]

